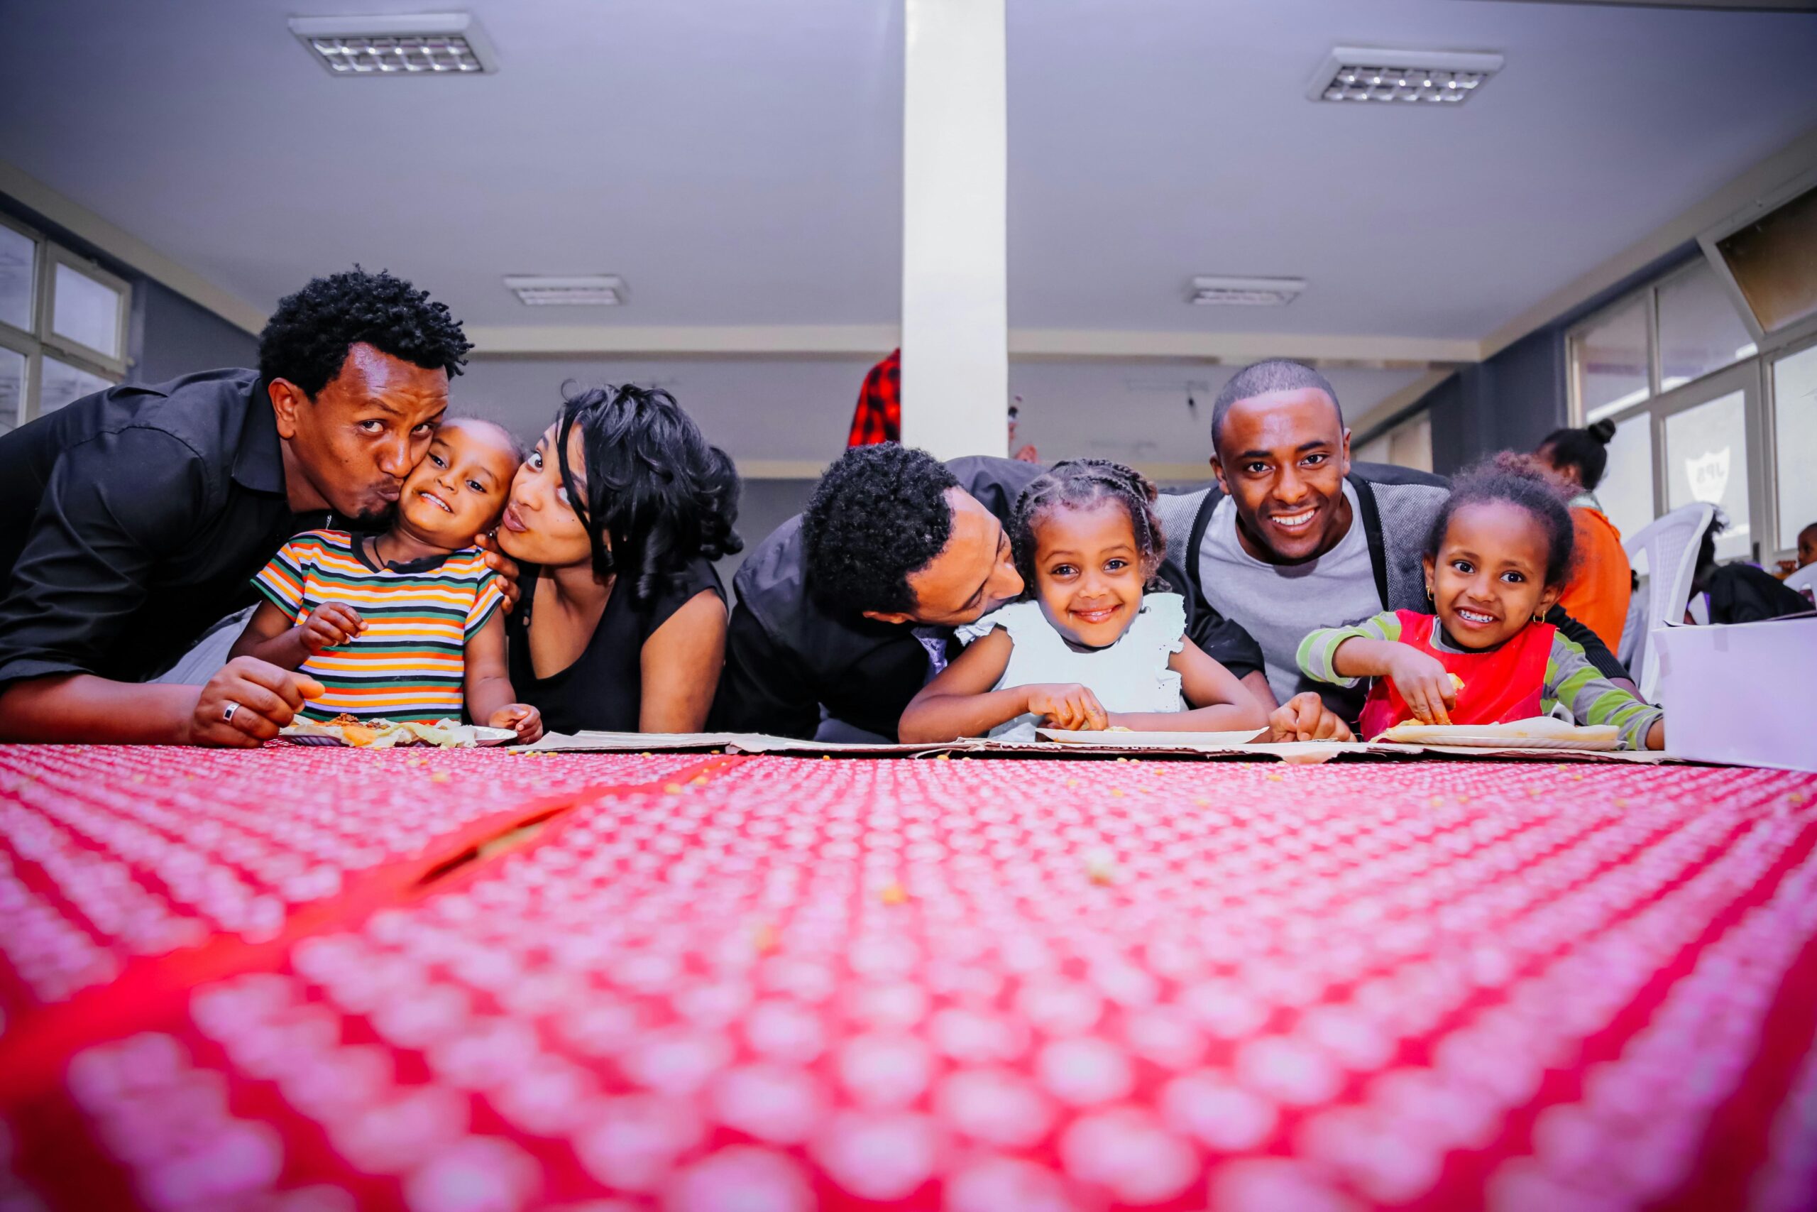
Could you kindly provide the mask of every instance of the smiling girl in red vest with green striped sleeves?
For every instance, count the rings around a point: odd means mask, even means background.
[[[1663,749],[1664,712],[1613,685],[1550,623],[1564,592],[1574,527],[1564,498],[1519,454],[1465,472],[1426,540],[1435,614],[1392,611],[1325,627],[1299,645],[1308,676],[1375,678],[1359,732],[1406,720],[1508,723],[1568,716],[1612,723],[1623,749]]]

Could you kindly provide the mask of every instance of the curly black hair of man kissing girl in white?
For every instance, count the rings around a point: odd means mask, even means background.
[[[959,482],[927,451],[894,442],[841,454],[801,514],[809,583],[829,611],[910,614],[908,574],[952,536]]]

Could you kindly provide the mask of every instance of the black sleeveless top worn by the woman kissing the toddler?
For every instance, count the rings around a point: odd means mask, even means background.
[[[643,703],[643,641],[700,591],[710,589],[725,600],[720,574],[700,558],[690,560],[678,581],[658,589],[641,607],[632,601],[630,583],[620,581],[612,585],[605,614],[574,663],[538,678],[531,665],[529,634],[538,572],[525,565],[523,600],[505,616],[505,636],[511,645],[511,687],[518,701],[543,712],[543,729],[551,732],[636,732]]]

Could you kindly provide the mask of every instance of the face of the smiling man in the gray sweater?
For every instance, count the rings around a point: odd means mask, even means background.
[[[1317,387],[1270,391],[1225,412],[1212,471],[1237,509],[1243,549],[1265,563],[1323,556],[1350,531],[1350,431]]]

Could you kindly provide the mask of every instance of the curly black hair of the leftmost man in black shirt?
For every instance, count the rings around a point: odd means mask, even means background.
[[[449,378],[460,374],[472,349],[447,303],[403,278],[354,265],[278,300],[258,334],[258,373],[265,382],[289,380],[314,400],[358,343],[425,371],[447,371]]]

